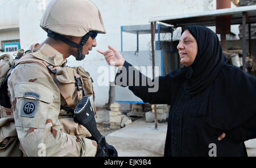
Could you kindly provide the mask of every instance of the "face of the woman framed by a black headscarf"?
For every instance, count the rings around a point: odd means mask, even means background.
[[[188,30],[182,33],[177,49],[179,50],[180,62],[186,67],[191,66],[195,61],[198,48],[196,38]]]

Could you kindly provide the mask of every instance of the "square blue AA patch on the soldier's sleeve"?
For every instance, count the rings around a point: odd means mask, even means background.
[[[35,117],[36,109],[38,107],[37,100],[26,100],[24,99],[22,102],[22,107],[20,109],[21,117]]]

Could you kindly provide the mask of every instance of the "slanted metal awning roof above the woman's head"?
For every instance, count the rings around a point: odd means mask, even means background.
[[[216,25],[216,16],[231,15],[231,24],[242,24],[243,12],[247,14],[247,23],[256,23],[256,5],[209,10],[192,14],[160,16],[151,18],[149,21],[160,21],[175,27],[185,27],[187,25],[214,26]]]

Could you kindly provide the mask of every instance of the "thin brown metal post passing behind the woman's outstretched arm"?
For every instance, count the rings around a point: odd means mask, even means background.
[[[151,46],[152,46],[152,68],[153,68],[153,78],[155,78],[155,47],[154,47],[154,42],[155,42],[155,25],[156,22],[154,23],[151,22]],[[154,105],[155,109],[155,129],[158,129],[158,116],[157,116],[157,109],[156,105]]]

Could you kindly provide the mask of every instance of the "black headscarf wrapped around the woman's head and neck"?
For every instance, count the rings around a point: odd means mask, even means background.
[[[209,28],[195,25],[186,29],[196,38],[198,46],[195,61],[186,73],[185,88],[193,95],[203,91],[213,81],[227,59],[222,53],[217,35]]]

